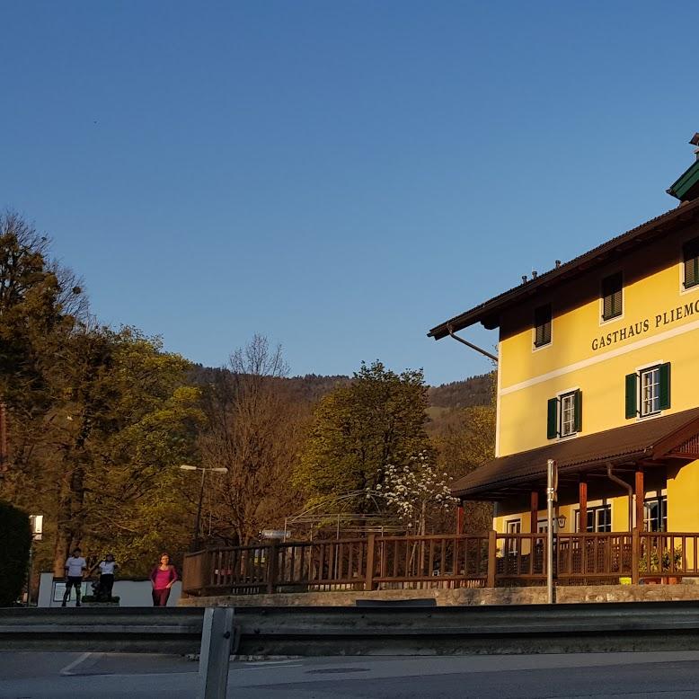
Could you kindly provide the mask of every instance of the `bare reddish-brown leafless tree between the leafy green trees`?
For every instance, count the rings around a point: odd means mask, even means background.
[[[208,492],[211,534],[229,544],[248,544],[266,526],[279,526],[301,503],[289,482],[305,426],[303,404],[279,379],[288,367],[281,348],[255,335],[217,372],[205,394],[207,424],[199,444],[213,473]]]

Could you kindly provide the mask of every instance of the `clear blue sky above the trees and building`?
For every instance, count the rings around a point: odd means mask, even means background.
[[[674,207],[695,9],[4,0],[0,207],[203,364],[482,373],[425,333]]]

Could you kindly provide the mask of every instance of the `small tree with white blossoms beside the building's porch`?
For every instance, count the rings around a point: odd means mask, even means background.
[[[451,496],[448,480],[448,474],[439,473],[429,455],[420,452],[407,465],[386,465],[373,495],[380,495],[413,532],[425,535],[429,512],[452,508],[458,502]]]

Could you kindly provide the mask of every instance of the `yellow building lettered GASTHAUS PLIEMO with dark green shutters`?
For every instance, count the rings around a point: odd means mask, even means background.
[[[500,534],[544,531],[548,459],[562,532],[699,532],[699,155],[668,193],[677,208],[429,332],[500,330],[496,458],[453,485],[495,502]]]

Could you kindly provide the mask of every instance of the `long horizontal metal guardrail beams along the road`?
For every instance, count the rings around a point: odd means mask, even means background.
[[[200,608],[5,609],[0,650],[196,653],[204,617]],[[246,606],[228,630],[241,655],[699,650],[699,602]]]

